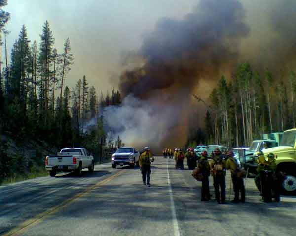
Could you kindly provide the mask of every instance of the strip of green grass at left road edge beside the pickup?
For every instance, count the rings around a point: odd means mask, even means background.
[[[16,183],[28,179],[34,179],[37,177],[44,177],[47,176],[48,172],[44,168],[34,168],[30,173],[28,174],[13,174],[10,177],[6,177],[3,179],[2,182],[0,182],[0,185],[5,185],[5,184],[11,184],[11,183]]]

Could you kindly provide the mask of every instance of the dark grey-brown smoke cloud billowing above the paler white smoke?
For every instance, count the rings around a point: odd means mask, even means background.
[[[201,76],[214,77],[237,61],[239,42],[249,32],[244,17],[236,0],[201,0],[183,20],[161,19],[139,52],[145,65],[121,76],[121,91],[146,97],[153,90],[174,84],[189,88]]]

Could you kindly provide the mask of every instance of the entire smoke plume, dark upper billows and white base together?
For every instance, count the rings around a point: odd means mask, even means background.
[[[292,0],[285,2],[295,5]],[[287,55],[292,57],[296,29],[292,23],[283,27],[287,19],[278,5],[287,8],[279,1],[270,7],[274,40],[257,43],[257,48],[254,45],[256,50],[273,46],[274,52],[279,53],[279,58],[271,55],[265,66],[278,59],[285,63]],[[133,69],[120,76],[119,88],[125,97],[122,107],[107,110],[109,125],[126,144],[138,148],[149,145],[157,151],[164,146],[184,145],[188,129],[204,122],[205,111],[199,108],[199,115],[195,114],[198,107],[193,104],[192,94],[198,92],[207,98],[221,74],[234,71],[240,61],[260,64],[260,56],[242,53],[252,47],[248,38],[254,37],[252,25],[246,23],[246,13],[238,0],[200,0],[184,19],[163,18],[153,32],[145,35],[139,52],[129,59],[137,59],[138,66],[134,63]],[[285,47],[282,39],[289,30],[293,34],[288,35],[293,38]],[[192,116],[194,122],[189,123]]]

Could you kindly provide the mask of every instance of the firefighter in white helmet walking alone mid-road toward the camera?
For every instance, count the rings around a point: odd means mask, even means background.
[[[139,165],[142,173],[143,184],[144,185],[147,184],[148,187],[150,187],[151,162],[153,161],[154,161],[154,157],[150,152],[150,148],[145,147],[144,152],[140,156]]]

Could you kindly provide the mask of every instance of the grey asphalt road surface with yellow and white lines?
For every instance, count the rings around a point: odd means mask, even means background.
[[[186,164],[186,163],[185,163]],[[97,165],[0,187],[0,236],[294,236],[296,198],[263,203],[253,179],[245,204],[200,201],[201,182],[157,157],[151,187],[139,169]],[[210,177],[213,193],[212,177]],[[230,175],[227,174],[227,200]]]

